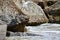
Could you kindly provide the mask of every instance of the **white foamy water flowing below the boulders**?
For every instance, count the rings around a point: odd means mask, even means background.
[[[26,28],[27,32],[24,36],[6,37],[5,40],[60,40],[60,24],[44,23]]]

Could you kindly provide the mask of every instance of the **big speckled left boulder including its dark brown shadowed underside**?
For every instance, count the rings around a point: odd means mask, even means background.
[[[8,31],[24,31],[23,29],[29,18],[15,6],[15,3],[12,0],[1,0],[0,20],[0,24],[8,25]]]

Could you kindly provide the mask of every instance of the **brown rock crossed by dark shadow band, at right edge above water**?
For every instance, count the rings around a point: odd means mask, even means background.
[[[60,22],[60,1],[56,2],[50,7],[44,9],[45,13],[48,15],[49,22],[59,23]]]

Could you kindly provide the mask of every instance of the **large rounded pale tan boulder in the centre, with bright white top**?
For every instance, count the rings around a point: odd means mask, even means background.
[[[27,4],[23,3],[22,5],[17,2],[15,4],[21,11],[29,17],[28,24],[36,25],[38,23],[48,22],[47,17],[44,14],[43,9],[32,1],[27,1]]]

